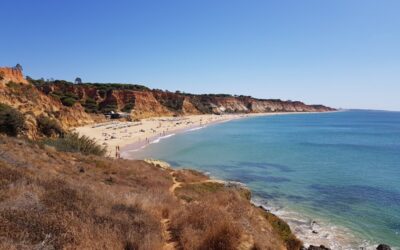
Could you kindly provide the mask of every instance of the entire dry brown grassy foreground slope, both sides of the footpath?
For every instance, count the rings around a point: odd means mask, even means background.
[[[298,249],[287,225],[240,189],[172,175],[182,182],[175,194],[170,171],[143,161],[0,136],[0,249],[162,249],[165,218],[178,249]]]

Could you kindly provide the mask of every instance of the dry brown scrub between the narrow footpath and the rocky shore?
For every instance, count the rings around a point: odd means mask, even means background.
[[[285,222],[249,204],[247,189],[192,181],[175,190],[188,203],[171,218],[174,235],[184,249],[237,249],[238,245],[300,249],[301,242]]]

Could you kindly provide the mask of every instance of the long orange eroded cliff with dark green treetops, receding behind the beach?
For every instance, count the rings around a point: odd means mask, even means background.
[[[127,85],[128,86],[128,85]],[[131,85],[132,86],[132,85]],[[107,90],[90,84],[67,84],[65,82],[44,84],[39,87],[47,95],[52,93],[73,93],[79,102],[88,98],[98,105],[98,111],[130,111],[134,118],[153,116],[222,114],[222,113],[264,113],[264,112],[325,112],[332,111],[322,105],[306,105],[302,102],[273,99],[255,99],[247,96],[190,95],[161,90]],[[127,108],[129,107],[129,108]]]

